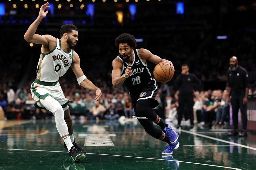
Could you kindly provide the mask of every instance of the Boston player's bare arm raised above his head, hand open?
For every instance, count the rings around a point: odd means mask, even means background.
[[[46,14],[48,13],[48,11],[45,11],[47,8],[49,8],[50,6],[49,3],[45,3],[44,5],[41,6],[40,11],[39,11],[39,15],[36,18],[36,20],[28,27],[27,32],[24,35],[24,39],[28,42],[33,42],[35,44],[45,44],[45,45],[49,45],[49,41],[54,38],[51,35],[39,35],[39,34],[35,34],[36,33],[36,29],[38,27],[38,25],[40,24],[40,22],[42,21],[42,19],[46,16]]]

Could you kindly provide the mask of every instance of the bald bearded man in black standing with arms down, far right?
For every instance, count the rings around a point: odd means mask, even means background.
[[[228,136],[245,137],[247,136],[247,100],[249,91],[249,78],[247,71],[238,65],[238,60],[235,56],[229,60],[228,77],[228,96],[231,96],[231,105],[233,112],[234,130]],[[242,114],[243,130],[238,134],[238,110],[240,108]]]

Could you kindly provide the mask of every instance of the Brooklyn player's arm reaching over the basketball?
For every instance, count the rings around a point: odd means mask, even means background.
[[[144,49],[144,48],[140,48],[138,51],[139,51],[139,55],[140,55],[140,57],[143,61],[148,60],[148,61],[150,61],[152,63],[155,63],[155,64],[166,63],[167,65],[172,67],[172,69],[174,71],[174,67],[173,67],[171,61],[162,59],[159,56],[152,54],[150,51],[148,51],[147,49]]]

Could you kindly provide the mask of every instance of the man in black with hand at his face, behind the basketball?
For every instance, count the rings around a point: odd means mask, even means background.
[[[188,72],[188,64],[181,66],[181,74],[175,81],[176,90],[179,88],[179,108],[178,108],[178,126],[180,128],[180,122],[182,120],[182,114],[184,107],[187,106],[188,118],[190,119],[191,129],[194,128],[194,115],[193,115],[193,94],[194,91],[201,89],[201,81],[194,75]]]

